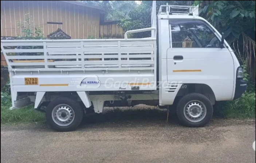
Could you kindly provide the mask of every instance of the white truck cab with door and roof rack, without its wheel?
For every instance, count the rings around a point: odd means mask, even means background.
[[[241,96],[236,91],[237,72],[240,64],[231,47],[222,35],[204,18],[198,16],[198,7],[190,8],[191,12],[170,12],[177,6],[164,5],[169,12],[158,14],[158,54],[160,81],[168,84],[179,83],[196,85],[206,91],[214,101],[233,100]],[[169,13],[172,13],[169,15]],[[170,103],[178,92],[169,92],[168,88],[160,89],[160,105]],[[237,92],[237,93],[235,93]],[[177,93],[177,94],[176,94]],[[236,95],[235,95],[236,94]],[[240,94],[240,95],[239,95]]]

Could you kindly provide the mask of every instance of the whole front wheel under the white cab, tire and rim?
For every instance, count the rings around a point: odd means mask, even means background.
[[[183,96],[177,105],[177,116],[188,127],[201,127],[211,120],[213,106],[210,100],[200,93]]]

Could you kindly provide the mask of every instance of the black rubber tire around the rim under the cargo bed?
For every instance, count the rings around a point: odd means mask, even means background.
[[[70,106],[74,111],[74,115],[75,115],[74,120],[68,126],[60,126],[56,124],[52,118],[53,109],[60,104],[66,104]],[[60,97],[58,99],[55,99],[47,106],[47,109],[46,109],[46,121],[51,126],[52,129],[57,131],[64,131],[64,132],[74,131],[80,125],[80,123],[82,122],[82,119],[83,119],[83,109],[81,108],[79,103],[67,97]]]

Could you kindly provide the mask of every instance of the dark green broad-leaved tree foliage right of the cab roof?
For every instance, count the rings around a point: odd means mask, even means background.
[[[200,16],[230,41],[242,33],[255,40],[255,1],[194,1],[200,4]]]

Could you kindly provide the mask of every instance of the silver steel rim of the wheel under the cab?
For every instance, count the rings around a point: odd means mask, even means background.
[[[184,106],[184,116],[190,122],[200,122],[206,116],[206,106],[198,100],[192,100]]]

